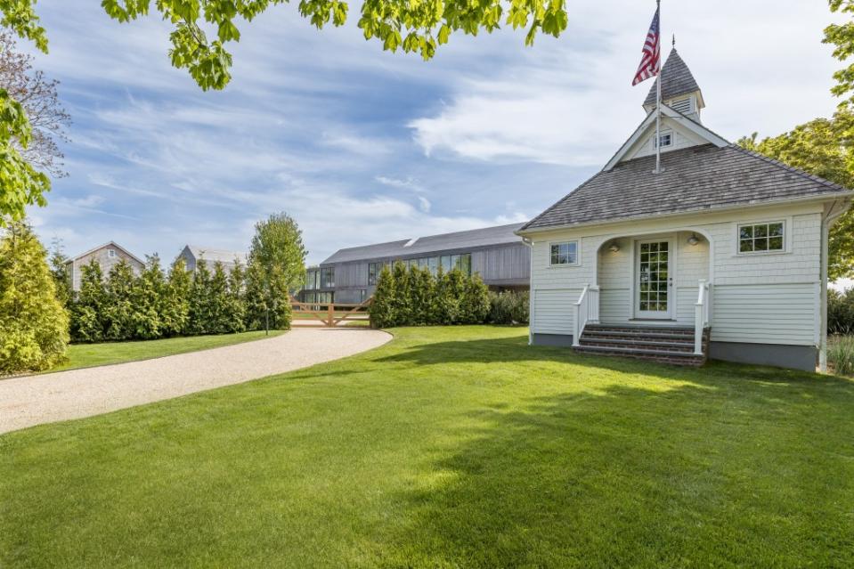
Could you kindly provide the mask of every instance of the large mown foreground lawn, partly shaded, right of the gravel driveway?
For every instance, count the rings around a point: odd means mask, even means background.
[[[854,565],[854,383],[398,329],[0,436],[0,566]]]

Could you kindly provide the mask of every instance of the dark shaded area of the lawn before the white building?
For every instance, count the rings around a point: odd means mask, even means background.
[[[854,384],[682,369],[517,338],[413,345],[378,362],[560,362],[642,374],[468,414],[400,496],[390,566],[851,566]],[[567,374],[572,381],[572,373]]]

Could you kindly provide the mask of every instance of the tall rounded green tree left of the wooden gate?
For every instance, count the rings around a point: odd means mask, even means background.
[[[305,246],[297,222],[285,213],[255,225],[249,249],[252,278],[264,303],[264,328],[290,328],[290,291],[305,280]]]

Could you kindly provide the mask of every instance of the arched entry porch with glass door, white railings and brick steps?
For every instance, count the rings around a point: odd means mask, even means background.
[[[699,365],[709,352],[712,241],[680,231],[603,240],[573,305],[573,347]]]

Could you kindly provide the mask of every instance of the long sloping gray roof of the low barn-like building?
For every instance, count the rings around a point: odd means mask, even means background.
[[[515,232],[522,225],[524,224],[499,225],[497,227],[486,227],[466,232],[430,235],[414,240],[390,241],[388,243],[378,243],[364,247],[339,249],[321,264],[347,263],[350,261],[365,261],[389,257],[414,258],[426,253],[437,253],[454,249],[471,249],[508,243],[521,243],[522,240]],[[407,243],[411,243],[411,245],[406,247]]]

